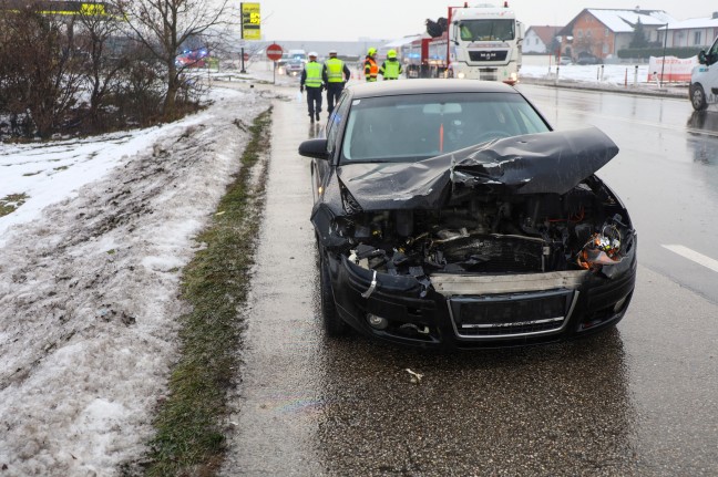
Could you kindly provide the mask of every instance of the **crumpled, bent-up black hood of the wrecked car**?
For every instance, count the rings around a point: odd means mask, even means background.
[[[416,163],[342,165],[337,177],[363,210],[437,208],[461,187],[565,194],[616,154],[608,136],[587,127],[495,139]]]

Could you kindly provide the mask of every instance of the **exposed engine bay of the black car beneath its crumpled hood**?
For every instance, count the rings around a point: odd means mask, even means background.
[[[343,253],[366,269],[434,272],[601,272],[634,247],[628,215],[595,176],[568,193],[468,195],[441,209],[360,211],[335,217]]]

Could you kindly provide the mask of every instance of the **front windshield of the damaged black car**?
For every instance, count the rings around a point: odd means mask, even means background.
[[[538,113],[514,93],[368,97],[351,105],[341,162],[416,162],[548,131]]]

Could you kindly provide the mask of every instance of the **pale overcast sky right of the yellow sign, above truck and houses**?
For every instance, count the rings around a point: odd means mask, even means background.
[[[440,0],[258,0],[265,40],[337,40],[360,38],[393,40],[421,33],[424,21],[447,15],[448,6],[463,1]],[[237,2],[237,7],[239,7]],[[469,4],[499,1],[474,0]],[[565,25],[584,8],[664,10],[676,20],[710,17],[718,4],[707,0],[510,0],[519,20],[531,25]]]

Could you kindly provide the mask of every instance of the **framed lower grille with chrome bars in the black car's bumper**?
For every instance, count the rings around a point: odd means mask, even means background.
[[[449,300],[457,335],[492,340],[557,333],[568,321],[577,291],[555,290]]]

